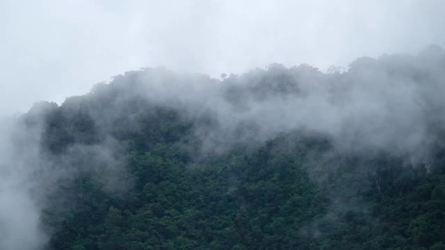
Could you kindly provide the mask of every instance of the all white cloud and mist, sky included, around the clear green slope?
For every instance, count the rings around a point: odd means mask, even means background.
[[[1,1],[0,249],[46,249],[44,210],[76,206],[55,192],[79,176],[131,190],[125,136],[162,130],[145,125],[157,108],[193,131],[195,161],[320,135],[326,159],[434,168],[445,52],[428,44],[445,44],[444,5]]]

